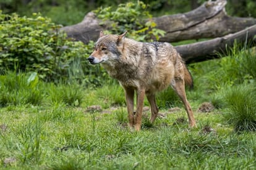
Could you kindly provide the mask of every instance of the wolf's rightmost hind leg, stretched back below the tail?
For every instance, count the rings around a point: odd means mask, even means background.
[[[177,95],[179,95],[179,98],[182,100],[182,102],[185,105],[187,116],[189,117],[189,125],[191,127],[196,127],[197,125],[195,124],[193,111],[190,107],[189,102],[187,101],[184,79],[174,78],[171,81],[171,86],[173,87],[174,91],[176,91]]]

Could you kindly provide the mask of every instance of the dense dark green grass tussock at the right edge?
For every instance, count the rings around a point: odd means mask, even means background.
[[[225,117],[234,125],[234,130],[256,130],[256,88],[252,86],[236,86],[224,92],[228,105]]]

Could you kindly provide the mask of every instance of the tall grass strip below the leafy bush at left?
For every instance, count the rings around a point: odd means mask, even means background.
[[[83,88],[79,84],[58,85],[43,83],[36,73],[9,71],[0,76],[0,107],[7,105],[39,105],[48,98],[51,103],[63,102],[78,107],[83,100]]]

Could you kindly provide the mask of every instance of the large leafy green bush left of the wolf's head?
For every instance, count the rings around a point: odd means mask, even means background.
[[[98,83],[90,75],[102,70],[87,62],[92,42],[86,46],[70,41],[59,28],[40,14],[27,18],[0,11],[0,70],[35,71],[47,81],[88,76],[87,83]]]

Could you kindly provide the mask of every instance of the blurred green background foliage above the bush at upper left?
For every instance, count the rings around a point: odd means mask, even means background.
[[[54,0],[54,1],[20,1],[7,0],[0,2],[0,8],[4,13],[13,12],[19,15],[31,17],[33,13],[40,12],[61,25],[72,25],[82,21],[84,15],[92,9],[83,0]]]

